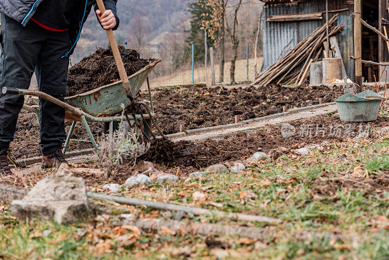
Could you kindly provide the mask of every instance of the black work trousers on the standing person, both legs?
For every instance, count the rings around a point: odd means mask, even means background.
[[[28,89],[35,71],[39,91],[64,101],[67,93],[70,49],[68,32],[52,32],[33,21],[25,27],[1,14],[0,87]],[[0,93],[0,150],[14,139],[18,114],[24,96]],[[65,110],[44,99],[39,100],[40,147],[52,154],[66,138]]]

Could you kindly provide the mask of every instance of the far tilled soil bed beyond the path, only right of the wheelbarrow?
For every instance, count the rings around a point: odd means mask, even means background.
[[[261,88],[177,87],[152,92],[158,125],[164,134],[179,132],[179,126],[187,130],[235,123],[287,109],[332,102],[343,94],[343,87],[268,86]],[[148,93],[141,99],[149,100]]]

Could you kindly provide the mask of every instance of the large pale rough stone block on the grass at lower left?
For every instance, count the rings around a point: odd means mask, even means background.
[[[22,200],[11,203],[11,211],[19,220],[38,218],[59,224],[74,223],[92,213],[84,179],[70,175],[39,181]]]

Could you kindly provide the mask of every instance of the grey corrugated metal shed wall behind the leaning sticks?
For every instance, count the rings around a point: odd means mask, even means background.
[[[285,0],[286,1],[286,0]],[[279,1],[278,1],[279,2]],[[290,2],[290,0],[289,0]],[[354,53],[353,26],[354,20],[349,14],[353,5],[348,5],[346,0],[329,0],[329,10],[349,8],[349,11],[340,12],[337,21],[346,24],[341,33],[337,35],[340,51],[346,71],[349,77],[354,78],[354,63],[349,62],[349,56]],[[262,12],[263,28],[263,52],[264,69],[268,68],[282,53],[285,46],[292,40],[291,48],[296,46],[302,39],[306,38],[316,28],[325,23],[325,15],[321,20],[306,21],[266,21],[269,16],[284,14],[303,14],[325,11],[325,1],[310,0],[303,2],[273,4],[266,3]],[[330,14],[330,17],[333,14]],[[290,46],[290,45],[289,45]]]

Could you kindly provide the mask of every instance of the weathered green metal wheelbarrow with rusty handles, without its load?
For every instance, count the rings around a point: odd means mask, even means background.
[[[153,71],[154,67],[160,62],[159,59],[156,59],[151,64],[147,65],[140,71],[135,74],[132,74],[128,77],[128,81],[131,86],[131,92],[134,96],[139,93],[141,86],[144,81],[147,79],[147,87],[150,95],[150,103],[152,114],[136,114],[135,117],[138,121],[151,120],[152,117],[155,117],[154,114],[154,106],[153,100],[151,98],[150,84],[148,80],[148,75]],[[98,145],[96,140],[93,137],[92,132],[88,126],[88,122],[100,122],[109,124],[109,134],[113,134],[113,125],[114,122],[126,121],[126,117],[117,114],[120,113],[122,109],[122,104],[127,106],[130,104],[130,99],[127,97],[127,94],[124,90],[122,81],[117,81],[111,83],[109,85],[88,91],[86,93],[70,96],[65,98],[65,102],[62,102],[53,96],[40,92],[40,91],[32,91],[32,90],[24,90],[24,89],[2,89],[3,94],[19,94],[19,95],[27,95],[33,97],[44,98],[54,104],[65,109],[66,121],[72,121],[71,128],[68,133],[68,137],[65,142],[65,146],[63,148],[63,153],[66,153],[66,150],[69,146],[69,142],[71,140],[71,136],[73,134],[74,128],[77,122],[82,122],[85,129],[87,130],[88,137],[90,142],[93,145],[93,148],[98,151]],[[38,104],[37,100],[35,100],[36,104]],[[39,106],[33,105],[29,106],[24,104],[23,109],[26,111],[34,112],[39,122]],[[130,120],[134,120],[134,115],[129,116]],[[74,140],[74,141],[85,141],[85,140]]]

